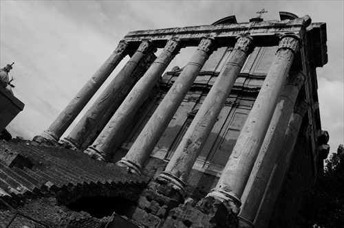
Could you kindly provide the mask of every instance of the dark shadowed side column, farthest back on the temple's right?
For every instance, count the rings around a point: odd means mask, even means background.
[[[255,216],[255,227],[268,227],[277,197],[283,185],[283,180],[289,169],[292,152],[297,142],[303,116],[308,110],[308,106],[308,102],[304,100],[297,102],[295,105],[296,110],[290,117],[288,128],[283,137],[283,144],[281,144],[281,150],[279,151],[279,156],[277,161],[273,164],[274,168],[269,175],[269,182],[266,186],[265,194],[259,205],[257,215]]]

